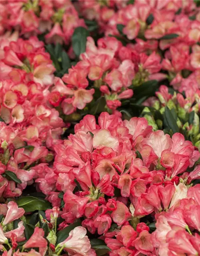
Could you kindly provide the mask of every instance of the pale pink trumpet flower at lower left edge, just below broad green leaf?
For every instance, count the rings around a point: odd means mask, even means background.
[[[18,208],[18,205],[14,201],[10,201],[7,206],[8,211],[3,221],[4,226],[12,222],[13,220],[17,220],[18,218],[22,217],[25,213],[24,209]]]

